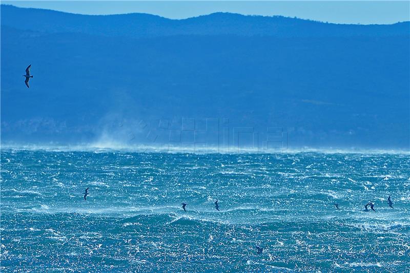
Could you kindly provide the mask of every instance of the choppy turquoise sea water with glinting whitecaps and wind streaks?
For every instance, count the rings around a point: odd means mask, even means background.
[[[1,157],[2,272],[410,271],[408,154]]]

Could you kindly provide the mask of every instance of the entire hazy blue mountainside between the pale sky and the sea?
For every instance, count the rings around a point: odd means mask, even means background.
[[[149,127],[184,142],[182,118],[219,118],[218,141],[222,127],[230,141],[251,130],[249,143],[275,127],[290,146],[408,149],[409,26],[2,5],[2,141],[154,141]]]

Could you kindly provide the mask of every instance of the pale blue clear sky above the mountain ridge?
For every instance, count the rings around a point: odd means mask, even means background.
[[[172,19],[213,12],[282,15],[338,24],[393,24],[410,20],[410,1],[1,1],[17,7],[80,14],[150,13]]]

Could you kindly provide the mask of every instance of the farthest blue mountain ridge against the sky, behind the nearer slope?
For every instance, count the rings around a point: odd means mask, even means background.
[[[17,8],[2,4],[1,24],[22,29],[21,22],[36,22],[31,28],[43,32],[83,32],[105,36],[169,35],[273,35],[357,36],[406,35],[410,22],[391,25],[332,24],[284,16],[242,15],[217,12],[186,19],[169,19],[147,13],[83,15],[45,9]],[[317,28],[316,30],[313,28]],[[31,29],[33,30],[33,29]]]

